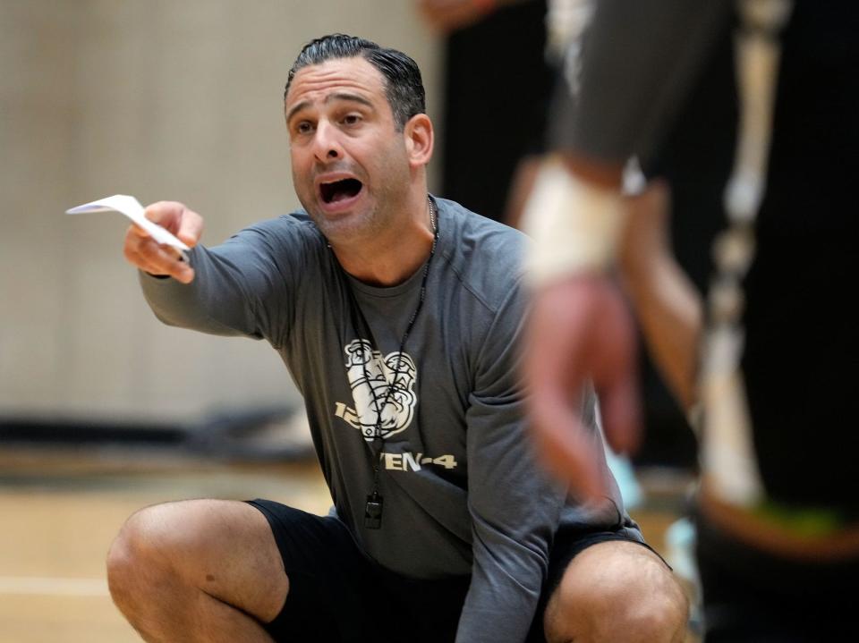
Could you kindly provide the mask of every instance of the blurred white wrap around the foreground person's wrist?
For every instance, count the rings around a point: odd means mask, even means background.
[[[529,283],[539,287],[606,270],[617,254],[624,215],[619,190],[585,181],[550,157],[523,216],[523,231],[534,241],[525,256]]]

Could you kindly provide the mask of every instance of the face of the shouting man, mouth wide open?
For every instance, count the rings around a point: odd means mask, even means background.
[[[381,73],[360,57],[303,67],[285,109],[295,191],[328,241],[383,231],[403,210],[411,172]]]

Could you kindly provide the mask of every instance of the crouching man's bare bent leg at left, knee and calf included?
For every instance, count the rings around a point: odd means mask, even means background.
[[[132,515],[107,554],[115,604],[148,641],[271,641],[289,589],[268,521],[246,503],[190,500]]]

